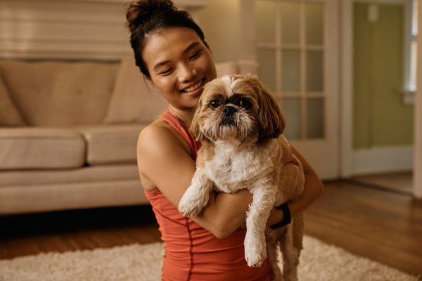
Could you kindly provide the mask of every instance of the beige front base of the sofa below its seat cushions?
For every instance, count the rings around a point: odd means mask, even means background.
[[[148,204],[139,178],[0,187],[0,215],[135,204]]]

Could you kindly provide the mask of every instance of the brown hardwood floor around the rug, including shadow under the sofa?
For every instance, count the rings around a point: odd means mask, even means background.
[[[307,235],[422,274],[422,202],[346,181],[325,186],[305,213]],[[149,206],[0,217],[0,259],[159,240]]]

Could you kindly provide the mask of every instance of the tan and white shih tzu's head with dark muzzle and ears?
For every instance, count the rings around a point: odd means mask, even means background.
[[[205,85],[191,131],[198,141],[238,143],[277,138],[284,117],[255,75],[226,75]]]

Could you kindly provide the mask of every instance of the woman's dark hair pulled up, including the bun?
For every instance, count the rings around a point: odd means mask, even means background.
[[[170,0],[132,1],[126,13],[127,27],[131,36],[130,44],[134,50],[135,63],[141,72],[151,79],[146,63],[142,58],[147,37],[167,27],[186,27],[198,34],[208,47],[203,31],[186,11],[179,11]]]

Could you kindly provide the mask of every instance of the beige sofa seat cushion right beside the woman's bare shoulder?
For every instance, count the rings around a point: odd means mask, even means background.
[[[136,142],[144,126],[134,124],[77,128],[87,141],[87,163],[136,163]]]

